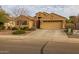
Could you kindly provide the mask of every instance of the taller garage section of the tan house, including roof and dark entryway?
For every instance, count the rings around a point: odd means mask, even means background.
[[[66,18],[55,13],[36,13],[36,27],[41,29],[64,29]]]

